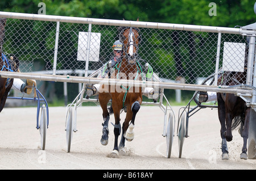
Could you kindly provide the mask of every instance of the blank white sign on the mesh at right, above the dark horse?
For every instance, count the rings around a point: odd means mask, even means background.
[[[224,71],[244,71],[245,43],[224,42],[223,64]]]

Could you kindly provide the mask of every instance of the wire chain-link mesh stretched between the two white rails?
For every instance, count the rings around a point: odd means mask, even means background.
[[[52,74],[56,22],[7,19],[5,28],[3,52],[7,55],[15,54],[19,58],[22,72],[41,71],[40,73]],[[93,61],[89,61],[90,73],[101,68],[114,56],[112,45],[119,38],[117,28],[118,26],[92,24],[92,33],[100,33],[100,37],[91,37],[89,59],[93,58]],[[139,57],[143,62],[148,62],[163,81],[197,84],[198,78],[208,77],[214,73],[218,33],[139,29],[142,36]],[[86,48],[87,43],[79,44],[79,33],[87,31],[88,24],[60,22],[56,74],[84,76],[86,61],[77,60],[77,50],[79,46]],[[93,43],[99,38],[97,56],[93,52],[96,49]],[[246,38],[222,33],[219,69],[222,69],[226,42],[246,45]],[[236,49],[236,45],[229,46],[233,51],[229,55],[230,59],[245,57],[241,51],[245,49]],[[230,67],[236,68],[236,65]]]

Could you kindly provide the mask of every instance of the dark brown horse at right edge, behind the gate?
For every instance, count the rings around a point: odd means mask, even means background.
[[[219,85],[234,86],[246,84],[247,74],[247,54],[245,51],[245,69],[243,72],[224,72],[218,78]],[[243,148],[240,155],[241,159],[247,159],[247,139],[249,136],[250,107],[246,106],[245,101],[234,94],[217,93],[218,100],[218,119],[221,123],[221,150],[222,159],[229,159],[229,151],[226,141],[232,141],[232,130],[240,127],[240,134],[243,137]]]

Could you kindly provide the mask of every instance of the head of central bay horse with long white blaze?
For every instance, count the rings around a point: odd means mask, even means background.
[[[139,44],[141,43],[139,28],[119,27],[119,41],[123,43],[123,57],[128,60],[129,64],[134,65],[138,56]]]

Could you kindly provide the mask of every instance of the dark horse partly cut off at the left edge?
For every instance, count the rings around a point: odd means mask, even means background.
[[[9,61],[5,54],[2,53],[3,39],[5,38],[5,25],[6,18],[0,18],[0,70],[1,71],[18,71],[19,61],[13,56]],[[13,86],[12,78],[2,78],[0,77],[0,112],[5,107],[6,98],[9,91]]]

